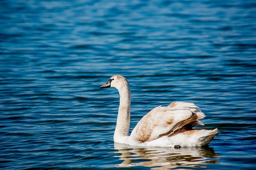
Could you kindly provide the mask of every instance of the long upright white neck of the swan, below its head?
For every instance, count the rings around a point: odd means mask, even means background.
[[[114,142],[122,143],[123,137],[127,137],[130,128],[131,116],[131,91],[129,84],[118,89],[120,94],[120,105],[116,120]]]

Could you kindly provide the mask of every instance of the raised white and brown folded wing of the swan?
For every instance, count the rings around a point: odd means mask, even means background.
[[[158,137],[170,136],[186,124],[202,124],[198,119],[204,117],[204,113],[193,103],[172,102],[167,107],[156,107],[143,116],[130,137],[141,143],[152,141]]]

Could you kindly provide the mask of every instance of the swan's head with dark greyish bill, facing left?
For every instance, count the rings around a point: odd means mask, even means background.
[[[108,82],[105,85],[100,86],[101,89],[108,87],[115,87],[117,90],[122,89],[123,87],[129,87],[129,83],[123,76],[114,75],[108,79]]]

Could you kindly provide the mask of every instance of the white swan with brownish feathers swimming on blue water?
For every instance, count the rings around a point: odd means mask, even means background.
[[[131,91],[126,78],[114,75],[100,88],[115,87],[120,94],[114,142],[133,146],[193,147],[209,144],[218,135],[218,129],[196,130],[199,119],[205,117],[193,103],[175,101],[159,106],[144,115],[129,136]]]

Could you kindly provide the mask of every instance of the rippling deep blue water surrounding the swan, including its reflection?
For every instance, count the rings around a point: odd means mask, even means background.
[[[254,169],[255,1],[0,2],[0,168]],[[207,147],[114,144],[114,74],[131,128],[172,101],[220,130]]]

